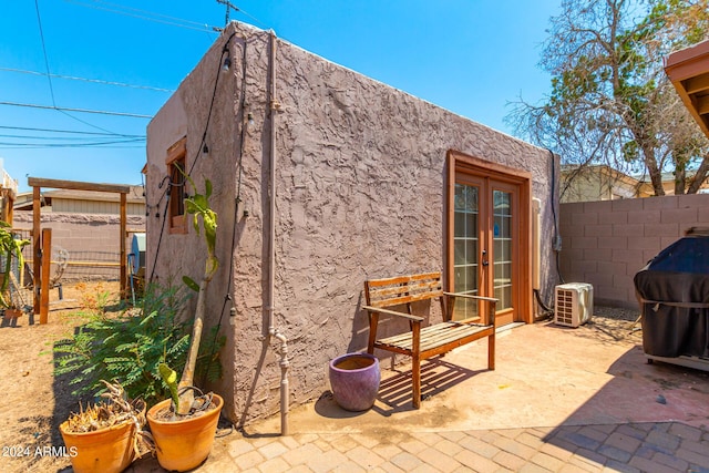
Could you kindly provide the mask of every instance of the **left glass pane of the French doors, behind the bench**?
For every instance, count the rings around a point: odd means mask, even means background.
[[[477,295],[479,254],[479,200],[477,187],[455,184],[455,209],[453,229],[453,287],[455,292]],[[477,316],[477,304],[458,298],[453,309],[453,320]]]

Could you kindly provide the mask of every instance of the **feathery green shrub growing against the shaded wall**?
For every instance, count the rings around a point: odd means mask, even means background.
[[[141,398],[148,405],[168,398],[158,366],[182,369],[186,362],[192,326],[179,320],[188,298],[185,292],[173,286],[148,285],[137,310],[119,316],[83,312],[88,322],[70,339],[54,345],[54,373],[72,377],[74,395],[95,395],[105,389],[101,380],[117,380],[129,398]],[[222,376],[218,352],[225,338],[217,333],[218,327],[214,327],[198,356],[199,376],[209,381]]]

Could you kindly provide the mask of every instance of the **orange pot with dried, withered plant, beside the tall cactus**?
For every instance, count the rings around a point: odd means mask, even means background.
[[[145,402],[131,401],[123,387],[103,381],[102,401],[80,409],[59,430],[75,473],[117,473],[152,450],[145,425]]]

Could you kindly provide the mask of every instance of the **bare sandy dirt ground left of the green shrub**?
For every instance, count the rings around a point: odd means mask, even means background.
[[[71,337],[82,319],[75,313],[95,308],[105,292],[115,301],[117,282],[64,284],[50,294],[47,325],[27,313],[0,318],[0,471],[66,472],[71,462],[59,432],[80,399],[72,395],[66,376],[54,377],[53,345]],[[117,306],[110,304],[112,310]],[[74,316],[72,316],[72,313]],[[81,400],[85,405],[90,399]]]

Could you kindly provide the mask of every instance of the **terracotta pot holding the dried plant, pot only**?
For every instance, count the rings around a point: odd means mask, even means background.
[[[74,473],[119,473],[133,462],[134,422],[83,433],[68,432],[68,422],[59,430]]]

